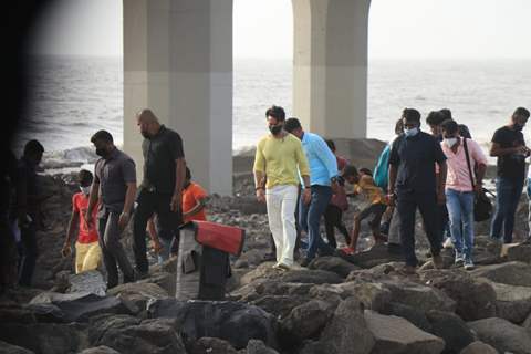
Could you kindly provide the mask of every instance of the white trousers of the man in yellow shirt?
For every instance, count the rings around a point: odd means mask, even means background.
[[[295,207],[298,187],[291,185],[274,186],[267,189],[269,228],[277,247],[277,262],[293,264],[296,241]]]

